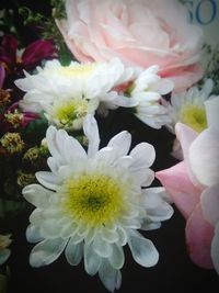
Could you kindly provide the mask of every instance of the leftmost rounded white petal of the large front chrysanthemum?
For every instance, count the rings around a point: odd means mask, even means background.
[[[37,207],[46,207],[49,205],[49,199],[53,195],[50,190],[43,188],[39,184],[31,184],[22,190],[25,200]]]

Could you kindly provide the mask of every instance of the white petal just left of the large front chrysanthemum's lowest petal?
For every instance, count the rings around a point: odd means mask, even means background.
[[[84,268],[90,275],[94,275],[101,266],[101,257],[95,253],[92,245],[84,245]]]

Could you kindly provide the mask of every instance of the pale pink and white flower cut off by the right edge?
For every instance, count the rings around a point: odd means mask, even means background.
[[[185,236],[192,260],[219,273],[219,99],[206,102],[208,128],[197,134],[176,124],[184,160],[157,172],[186,219]]]

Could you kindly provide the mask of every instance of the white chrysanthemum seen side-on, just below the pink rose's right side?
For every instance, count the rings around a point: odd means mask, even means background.
[[[151,66],[142,71],[130,91],[130,95],[137,101],[135,115],[153,128],[161,128],[171,122],[161,95],[173,90],[173,82],[159,77],[158,70],[158,66]]]

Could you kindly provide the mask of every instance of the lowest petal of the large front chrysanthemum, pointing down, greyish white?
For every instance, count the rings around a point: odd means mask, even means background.
[[[114,269],[107,261],[103,259],[101,268],[99,270],[99,277],[104,284],[104,286],[114,292],[115,289],[119,289],[122,284],[122,274],[119,270]]]

